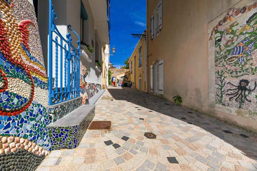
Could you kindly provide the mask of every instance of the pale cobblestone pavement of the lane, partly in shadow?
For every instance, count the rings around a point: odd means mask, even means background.
[[[37,170],[257,170],[252,134],[135,89],[102,97],[94,120],[112,129],[88,130],[77,148],[52,151]]]

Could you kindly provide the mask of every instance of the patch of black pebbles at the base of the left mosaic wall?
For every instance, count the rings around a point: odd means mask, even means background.
[[[45,158],[26,149],[0,155],[0,170],[36,170]]]

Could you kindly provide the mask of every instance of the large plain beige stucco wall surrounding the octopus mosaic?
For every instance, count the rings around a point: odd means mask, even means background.
[[[150,18],[158,0],[147,0],[148,73],[155,59],[164,60],[164,98],[172,101],[173,96],[180,95],[183,98],[182,105],[187,108],[257,129],[256,120],[238,116],[236,111],[227,112],[230,109],[218,111],[217,106],[209,101],[209,82],[214,82],[214,78],[209,79],[212,66],[209,66],[208,58],[208,23],[218,20],[222,13],[234,5],[241,4],[243,7],[244,4],[254,2],[163,0],[163,26],[158,37],[152,41]],[[150,74],[148,90],[150,91]]]

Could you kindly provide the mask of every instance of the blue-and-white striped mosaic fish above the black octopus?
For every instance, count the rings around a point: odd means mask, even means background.
[[[252,48],[255,44],[255,41],[252,42],[250,45],[246,46],[245,44],[249,41],[250,39],[246,39],[241,41],[236,47],[234,47],[228,58],[226,58],[225,62],[227,64],[234,63],[235,61],[238,60],[238,62],[241,64],[244,62],[244,54],[247,53],[249,56],[252,54]]]

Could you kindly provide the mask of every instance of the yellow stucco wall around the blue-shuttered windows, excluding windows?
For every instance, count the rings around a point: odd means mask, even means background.
[[[139,68],[139,48],[142,46],[142,67]],[[146,89],[145,83],[145,40],[139,40],[132,55],[129,59],[129,70],[131,72],[131,60],[132,60],[132,74],[129,76],[129,80],[132,81],[136,89],[139,89],[139,78],[142,81],[142,91]]]

